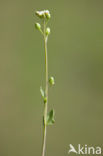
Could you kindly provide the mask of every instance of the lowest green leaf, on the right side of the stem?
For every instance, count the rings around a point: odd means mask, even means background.
[[[54,120],[54,110],[52,109],[48,115],[47,115],[47,119],[46,119],[46,124],[47,125],[53,125],[55,122]]]

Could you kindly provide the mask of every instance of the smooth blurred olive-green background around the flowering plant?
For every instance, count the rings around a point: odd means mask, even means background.
[[[34,12],[43,9],[52,15],[49,75],[56,79],[46,155],[67,156],[70,143],[102,147],[103,1],[0,0],[0,156],[41,156],[44,45]]]

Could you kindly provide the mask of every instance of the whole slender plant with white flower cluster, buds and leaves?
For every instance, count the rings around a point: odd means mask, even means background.
[[[50,28],[49,27],[46,28],[46,25],[47,25],[48,20],[50,19],[51,15],[50,15],[50,12],[48,10],[36,11],[36,15],[40,19],[43,19],[43,29],[41,28],[41,25],[39,23],[36,23],[35,27],[43,35],[44,51],[45,51],[45,91],[42,89],[42,87],[40,88],[40,92],[41,92],[43,102],[44,102],[42,156],[45,156],[47,126],[52,125],[55,122],[55,120],[54,120],[54,110],[51,110],[48,113],[48,85],[49,85],[49,83],[51,85],[54,85],[54,78],[53,77],[50,77],[50,79],[48,78],[47,41],[48,41],[48,36],[50,34]]]

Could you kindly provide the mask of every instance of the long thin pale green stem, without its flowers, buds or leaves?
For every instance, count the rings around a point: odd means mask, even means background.
[[[47,133],[47,126],[46,126],[46,117],[47,117],[47,105],[48,105],[48,56],[47,56],[47,37],[45,34],[46,31],[46,23],[44,20],[44,49],[45,49],[45,94],[47,101],[44,103],[44,125],[43,125],[43,150],[42,150],[42,156],[45,156],[45,150],[46,150],[46,133]]]

